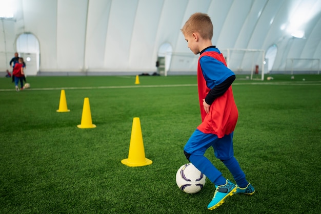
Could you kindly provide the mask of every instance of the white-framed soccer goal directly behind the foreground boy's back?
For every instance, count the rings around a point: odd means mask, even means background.
[[[227,67],[235,74],[249,74],[250,79],[264,80],[264,50],[223,49],[221,52]]]

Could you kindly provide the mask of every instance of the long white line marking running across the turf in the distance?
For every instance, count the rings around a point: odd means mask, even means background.
[[[295,82],[235,82],[232,85],[321,85],[321,81],[295,81]],[[197,84],[160,84],[160,85],[119,85],[119,86],[96,86],[96,87],[62,87],[62,88],[31,88],[27,91],[50,91],[50,90],[81,90],[81,89],[134,89],[134,88],[167,88],[167,87],[196,87]],[[15,91],[15,89],[0,89],[0,92]]]

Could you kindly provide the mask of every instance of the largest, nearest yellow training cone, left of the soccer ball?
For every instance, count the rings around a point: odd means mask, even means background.
[[[123,159],[122,163],[127,166],[146,166],[153,163],[145,158],[141,122],[138,117],[133,119],[128,159]]]

